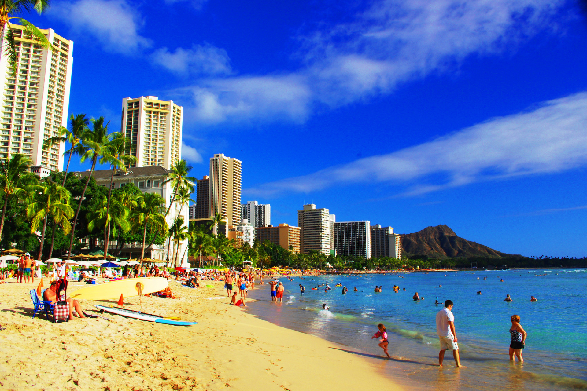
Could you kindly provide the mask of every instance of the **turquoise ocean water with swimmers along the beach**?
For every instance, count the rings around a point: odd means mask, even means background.
[[[251,291],[258,298],[248,311],[275,324],[347,345],[349,355],[371,359],[400,384],[413,389],[587,389],[587,270],[535,269],[282,278],[283,304],[272,304],[268,285]],[[487,277],[487,279],[484,279]],[[479,279],[477,279],[479,278]],[[501,282],[500,280],[504,281]],[[332,290],[311,288],[328,281]],[[299,294],[298,284],[306,287]],[[349,289],[343,295],[340,283]],[[400,292],[394,293],[393,285]],[[382,293],[374,293],[382,285]],[[357,287],[358,292],[353,292]],[[403,290],[406,288],[406,291]],[[481,295],[477,295],[481,291]],[[415,292],[424,297],[414,302]],[[510,294],[514,302],[505,302]],[[530,302],[534,295],[538,302]],[[434,318],[454,302],[453,314],[464,369],[438,362]],[[330,307],[321,311],[322,304]],[[528,332],[522,365],[508,357],[510,317],[517,314]],[[384,323],[392,360],[371,336]]]

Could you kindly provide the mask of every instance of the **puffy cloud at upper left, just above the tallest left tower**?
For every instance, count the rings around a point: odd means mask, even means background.
[[[139,13],[125,0],[59,1],[50,13],[74,32],[90,33],[113,52],[132,53],[151,45],[149,39],[139,35]]]

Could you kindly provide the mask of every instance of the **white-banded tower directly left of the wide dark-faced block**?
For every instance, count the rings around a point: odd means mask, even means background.
[[[333,219],[330,216],[330,210],[316,209],[313,203],[304,205],[302,210],[298,210],[300,253],[308,254],[310,250],[316,250],[325,255],[335,253],[334,246],[331,245],[330,226],[333,224]]]

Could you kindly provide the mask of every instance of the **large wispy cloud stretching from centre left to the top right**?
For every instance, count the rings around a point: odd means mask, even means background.
[[[205,122],[284,114],[303,120],[316,106],[388,94],[399,83],[454,70],[470,55],[507,50],[538,30],[552,29],[552,15],[564,2],[380,0],[353,22],[304,37],[298,53],[303,66],[295,72],[198,81],[191,89],[194,112]],[[276,80],[281,94],[267,91]],[[247,83],[261,84],[244,96]]]

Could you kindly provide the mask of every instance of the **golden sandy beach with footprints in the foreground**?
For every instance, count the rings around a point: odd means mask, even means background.
[[[170,281],[179,299],[141,298],[144,312],[199,322],[191,327],[112,314],[103,314],[108,321],[53,324],[44,314],[32,319],[29,291],[37,284],[0,285],[2,389],[399,389],[383,375],[383,360],[339,350],[348,348],[228,305],[221,282],[190,289]],[[70,282],[68,295],[85,286]],[[91,314],[97,314],[95,304],[116,301],[82,301]],[[138,310],[139,298],[125,299],[124,308]]]

